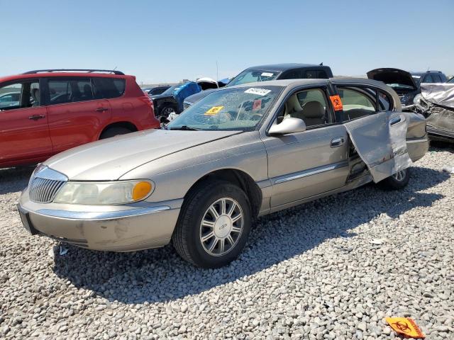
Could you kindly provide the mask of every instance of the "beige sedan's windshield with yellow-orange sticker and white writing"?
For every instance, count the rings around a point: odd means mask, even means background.
[[[248,86],[215,91],[187,108],[167,129],[255,130],[281,90],[282,86]]]

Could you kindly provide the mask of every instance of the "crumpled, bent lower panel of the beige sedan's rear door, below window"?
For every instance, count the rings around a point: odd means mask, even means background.
[[[375,183],[411,165],[406,149],[408,124],[404,113],[389,112],[368,115],[344,124]]]

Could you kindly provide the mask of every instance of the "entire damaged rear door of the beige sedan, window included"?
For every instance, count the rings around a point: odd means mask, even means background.
[[[373,86],[336,86],[343,103],[343,120],[350,141],[375,183],[411,165],[406,148],[409,121],[394,112],[389,94]]]

